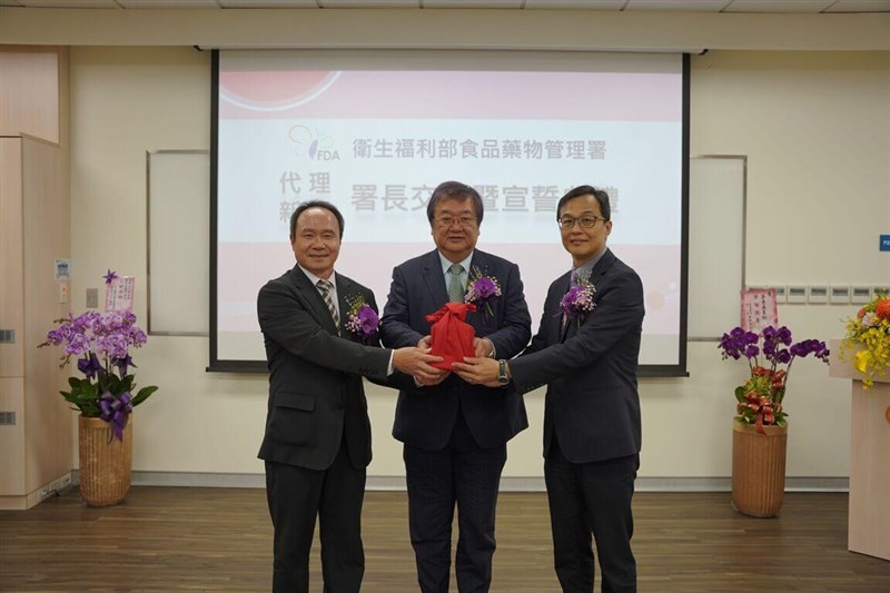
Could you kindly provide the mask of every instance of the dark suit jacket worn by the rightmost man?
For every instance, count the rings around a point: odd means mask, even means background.
[[[550,286],[538,333],[510,363],[521,393],[547,384],[544,456],[556,435],[565,458],[589,463],[640,452],[636,367],[643,327],[643,285],[606,249],[591,270],[595,307],[563,332],[560,299],[571,273]]]

